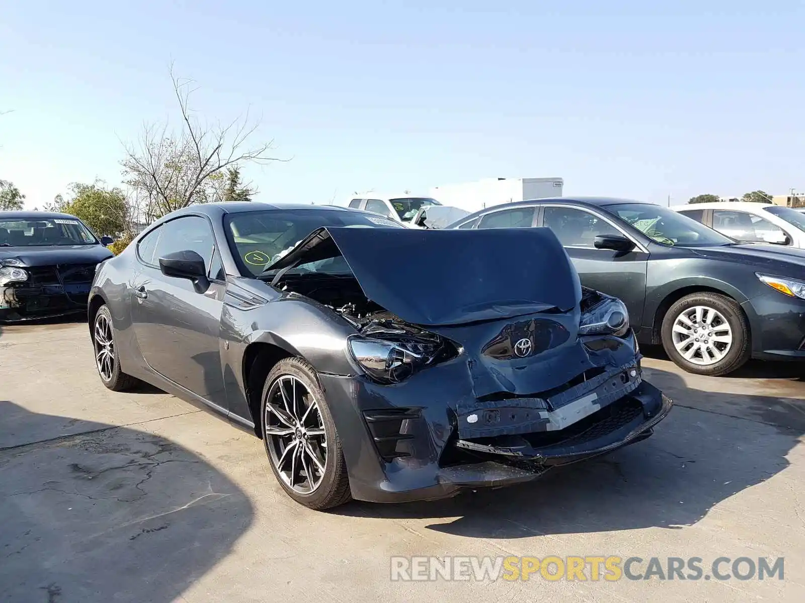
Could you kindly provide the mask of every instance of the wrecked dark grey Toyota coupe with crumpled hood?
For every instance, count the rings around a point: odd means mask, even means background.
[[[317,509],[527,481],[671,408],[621,301],[583,292],[544,228],[188,207],[100,266],[89,326],[107,388],[142,379],[229,417]]]

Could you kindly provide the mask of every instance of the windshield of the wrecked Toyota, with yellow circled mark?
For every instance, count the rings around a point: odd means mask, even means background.
[[[243,211],[225,217],[226,236],[241,272],[256,277],[267,265],[290,252],[316,228],[346,226],[354,228],[405,228],[388,218],[357,211]],[[301,273],[350,274],[339,256],[302,264],[289,271]]]

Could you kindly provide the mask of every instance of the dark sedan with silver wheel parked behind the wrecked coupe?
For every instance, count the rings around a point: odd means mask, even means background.
[[[638,342],[686,371],[726,375],[749,358],[805,359],[805,250],[738,244],[667,207],[538,199],[448,228],[551,228],[584,286],[619,297]]]

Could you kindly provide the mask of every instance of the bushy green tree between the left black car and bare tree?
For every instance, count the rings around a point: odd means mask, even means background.
[[[92,184],[72,183],[72,199],[67,203],[60,195],[54,205],[63,205],[59,211],[81,218],[97,235],[119,236],[129,232],[129,211],[126,195],[119,188],[106,188],[101,180]]]

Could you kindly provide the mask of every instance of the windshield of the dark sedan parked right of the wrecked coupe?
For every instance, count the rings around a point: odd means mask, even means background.
[[[736,241],[659,205],[649,203],[617,203],[603,209],[637,228],[661,245],[679,247],[713,247],[731,245]]]

